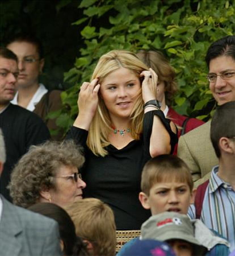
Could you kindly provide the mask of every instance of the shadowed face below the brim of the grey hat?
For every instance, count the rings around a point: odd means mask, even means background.
[[[170,240],[166,242],[173,248],[177,256],[191,256],[193,253],[192,245],[189,242],[183,240]]]

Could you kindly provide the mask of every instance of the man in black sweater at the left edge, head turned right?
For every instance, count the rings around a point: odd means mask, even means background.
[[[50,138],[43,120],[35,113],[10,104],[14,98],[18,77],[17,57],[9,49],[0,48],[0,128],[6,142],[6,163],[1,176],[1,193],[11,200],[7,185],[12,167],[32,144]]]

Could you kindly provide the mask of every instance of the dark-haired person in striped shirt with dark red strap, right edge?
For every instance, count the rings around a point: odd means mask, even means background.
[[[232,68],[229,63],[228,67]],[[227,88],[223,92],[225,91]],[[198,202],[195,203],[197,214],[191,217],[200,218],[208,228],[227,238],[231,245],[230,250],[234,250],[235,101],[227,102],[216,109],[211,121],[211,141],[219,158],[219,166],[212,168],[209,182],[199,185],[195,197],[195,202]],[[202,207],[200,212],[199,206]]]

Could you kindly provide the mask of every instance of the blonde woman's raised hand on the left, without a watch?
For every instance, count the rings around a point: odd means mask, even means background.
[[[78,117],[74,126],[89,130],[90,123],[95,115],[98,106],[99,79],[95,78],[91,82],[83,82],[78,96]]]

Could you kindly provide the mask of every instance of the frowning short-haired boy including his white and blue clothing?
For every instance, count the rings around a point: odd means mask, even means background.
[[[194,197],[195,189],[193,189],[190,170],[182,159],[174,155],[160,155],[145,164],[139,199],[145,209],[151,210],[152,215],[163,212],[187,214],[190,204],[194,203]],[[229,254],[228,241],[215,236],[200,220],[192,222],[195,238],[207,247],[209,250],[207,255]],[[203,234],[206,234],[206,237]],[[133,242],[135,240],[125,244],[118,255],[122,255],[125,247]],[[212,248],[215,249],[212,251]]]

